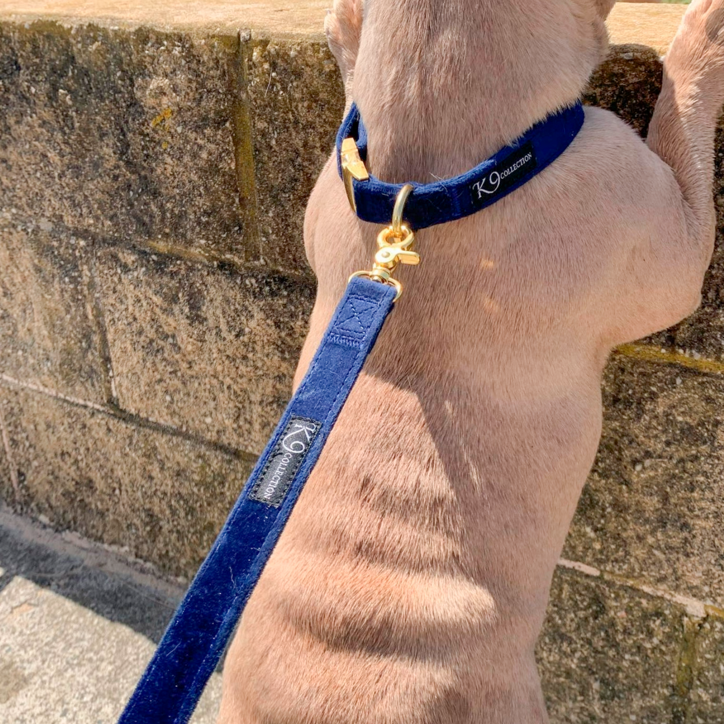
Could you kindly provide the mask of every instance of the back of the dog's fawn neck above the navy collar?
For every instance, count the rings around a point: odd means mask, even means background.
[[[599,0],[366,0],[353,96],[390,182],[462,173],[575,102],[602,59]]]

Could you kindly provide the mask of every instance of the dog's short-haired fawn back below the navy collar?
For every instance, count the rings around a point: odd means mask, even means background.
[[[419,233],[422,264],[401,275],[405,295],[248,605],[227,664],[244,714],[230,722],[545,720],[533,647],[598,444],[600,371],[613,341],[639,336],[632,310],[662,306],[654,283],[655,298],[634,299],[627,268],[651,222],[639,209],[660,203],[653,188],[641,198],[648,154],[589,110],[554,167]],[[374,243],[336,173],[310,202],[329,241],[313,249],[317,338]],[[669,287],[674,321],[696,299]]]

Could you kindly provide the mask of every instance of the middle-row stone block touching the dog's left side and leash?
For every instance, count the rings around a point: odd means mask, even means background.
[[[98,286],[122,408],[261,452],[291,395],[313,287],[112,248]]]

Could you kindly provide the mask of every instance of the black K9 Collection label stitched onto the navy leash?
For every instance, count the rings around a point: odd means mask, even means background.
[[[282,437],[277,445],[274,445],[264,470],[261,471],[261,477],[249,493],[251,500],[265,502],[274,508],[282,505],[282,500],[320,427],[321,423],[316,420],[293,416],[290,418]]]

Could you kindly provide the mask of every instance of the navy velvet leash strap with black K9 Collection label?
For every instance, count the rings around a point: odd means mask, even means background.
[[[389,285],[360,277],[350,281],[306,376],[119,724],[188,722],[394,298]]]

